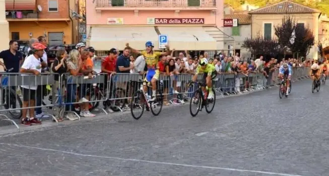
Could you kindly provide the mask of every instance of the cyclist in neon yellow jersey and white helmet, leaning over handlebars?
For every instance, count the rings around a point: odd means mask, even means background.
[[[196,72],[192,81],[195,82],[198,78],[198,74],[204,74],[204,83],[206,83],[206,90],[209,90],[208,99],[214,98],[214,92],[212,91],[212,79],[216,77],[217,72],[213,64],[209,64],[206,58],[202,58],[199,62],[199,66],[196,68]],[[202,87],[202,91],[205,91],[205,87]],[[207,96],[207,95],[205,95]]]

